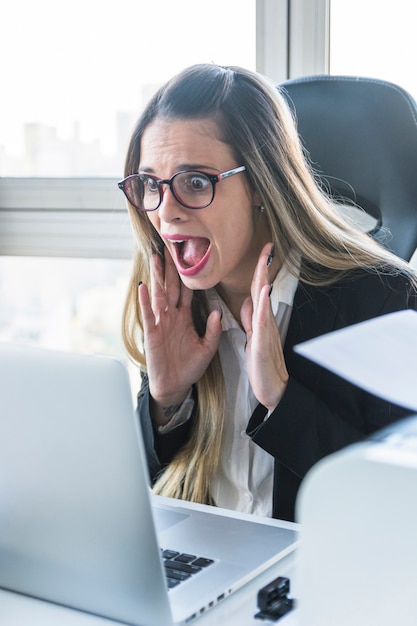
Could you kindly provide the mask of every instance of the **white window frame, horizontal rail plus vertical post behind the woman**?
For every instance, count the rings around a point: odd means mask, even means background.
[[[328,73],[330,0],[257,0],[256,69],[279,83]],[[0,178],[0,256],[126,259],[116,178]]]

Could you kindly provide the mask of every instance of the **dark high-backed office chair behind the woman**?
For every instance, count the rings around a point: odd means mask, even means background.
[[[325,189],[373,216],[363,229],[408,261],[417,248],[413,98],[392,83],[353,76],[307,76],[279,88]]]

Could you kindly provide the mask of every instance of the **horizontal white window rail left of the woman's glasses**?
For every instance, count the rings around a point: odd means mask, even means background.
[[[0,255],[127,259],[132,246],[116,178],[0,179]]]

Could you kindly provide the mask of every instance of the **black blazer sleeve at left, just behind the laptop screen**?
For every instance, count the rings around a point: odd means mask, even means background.
[[[147,375],[143,373],[136,415],[141,427],[149,472],[153,481],[189,437],[196,403],[196,392],[193,388],[192,398],[188,400],[188,402],[193,402],[190,418],[163,434],[158,431],[158,428],[152,421],[149,401],[149,381]]]

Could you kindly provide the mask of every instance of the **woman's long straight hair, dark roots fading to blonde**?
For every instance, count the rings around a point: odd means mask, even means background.
[[[265,209],[276,255],[300,281],[330,284],[355,268],[407,273],[408,264],[341,217],[319,186],[298,138],[292,114],[279,90],[259,74],[238,67],[195,65],[181,72],[152,98],[132,134],[125,176],[138,171],[141,137],[156,118],[213,119]],[[123,316],[123,339],[132,359],[146,370],[143,327],[137,299],[140,280],[149,285],[149,258],[163,246],[146,214],[129,206],[136,253]],[[197,332],[208,315],[204,292],[193,298]],[[219,356],[196,384],[198,403],[189,440],[161,473],[154,490],[163,495],[210,503],[210,483],[220,454],[225,386]]]

